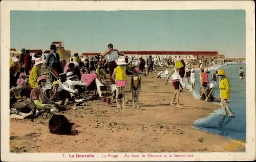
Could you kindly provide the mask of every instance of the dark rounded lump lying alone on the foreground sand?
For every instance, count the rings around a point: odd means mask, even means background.
[[[54,114],[49,121],[49,131],[53,134],[75,135],[78,131],[72,130],[73,125],[64,115]]]

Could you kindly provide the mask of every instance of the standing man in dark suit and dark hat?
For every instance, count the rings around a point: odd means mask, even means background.
[[[63,73],[62,66],[60,64],[59,54],[56,52],[57,48],[55,44],[50,47],[51,52],[46,57],[46,65],[50,70],[50,83],[52,84],[58,78],[55,78],[53,73]]]

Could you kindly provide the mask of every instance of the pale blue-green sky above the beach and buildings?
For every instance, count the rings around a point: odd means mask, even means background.
[[[218,51],[245,57],[245,10],[11,11],[11,48]]]

